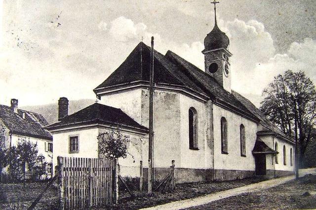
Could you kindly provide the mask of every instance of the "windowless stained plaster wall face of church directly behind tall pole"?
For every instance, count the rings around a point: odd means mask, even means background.
[[[180,93],[155,90],[154,94],[154,166],[169,168],[180,158]],[[149,91],[142,90],[142,125],[149,126]],[[148,150],[146,151],[148,153]],[[146,154],[145,154],[146,155]],[[148,154],[147,154],[148,157]],[[145,159],[148,166],[148,159]]]

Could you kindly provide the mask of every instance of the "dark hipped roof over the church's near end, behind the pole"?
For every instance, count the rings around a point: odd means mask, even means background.
[[[100,90],[110,89],[113,86],[124,86],[135,82],[148,85],[150,52],[150,47],[140,42],[122,64],[94,89],[94,92],[98,93]],[[156,85],[179,87],[205,95],[205,92],[192,80],[178,71],[174,63],[167,60],[164,55],[157,51],[154,51],[154,69],[154,83]]]

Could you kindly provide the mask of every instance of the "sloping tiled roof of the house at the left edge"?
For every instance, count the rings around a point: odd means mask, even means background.
[[[23,119],[25,113],[25,119]],[[52,140],[49,132],[43,129],[47,121],[40,114],[18,109],[18,113],[14,113],[11,107],[0,105],[0,120],[10,130],[10,133]]]

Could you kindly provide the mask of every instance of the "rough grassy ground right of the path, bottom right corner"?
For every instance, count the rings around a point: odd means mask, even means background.
[[[316,176],[303,177],[260,192],[245,193],[191,209],[316,209]]]

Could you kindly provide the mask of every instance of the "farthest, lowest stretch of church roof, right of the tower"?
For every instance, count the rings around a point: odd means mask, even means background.
[[[259,131],[257,135],[264,135],[268,133],[267,131],[272,131],[274,134],[280,136],[281,138],[291,141],[280,129],[278,129],[278,127],[276,127],[274,123],[268,120],[268,118],[247,98],[243,97],[236,91],[232,91],[232,93],[251,113],[253,113],[257,118],[260,119],[260,124],[267,129]]]

